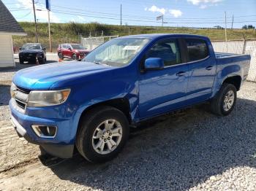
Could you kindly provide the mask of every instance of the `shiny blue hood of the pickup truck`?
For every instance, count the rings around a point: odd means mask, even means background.
[[[50,63],[20,70],[12,82],[29,90],[48,90],[61,80],[72,80],[110,69],[114,68],[89,62]]]

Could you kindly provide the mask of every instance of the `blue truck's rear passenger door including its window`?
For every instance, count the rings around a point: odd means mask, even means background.
[[[188,104],[200,102],[211,96],[217,66],[214,55],[210,55],[203,39],[185,39],[188,52],[189,82]]]

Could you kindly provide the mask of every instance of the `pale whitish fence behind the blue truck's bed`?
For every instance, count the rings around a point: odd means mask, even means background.
[[[213,41],[211,42],[215,52],[228,52],[235,54],[251,55],[251,65],[248,80],[256,82],[256,39]]]

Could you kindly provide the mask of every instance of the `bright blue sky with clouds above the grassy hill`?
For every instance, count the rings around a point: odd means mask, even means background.
[[[3,1],[18,21],[34,22],[32,0]],[[45,0],[34,0],[38,22],[48,22]],[[256,26],[256,0],[51,0],[51,23],[106,23],[128,26],[241,28]]]

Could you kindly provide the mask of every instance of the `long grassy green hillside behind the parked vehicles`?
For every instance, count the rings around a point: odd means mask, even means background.
[[[35,42],[34,23],[20,22],[20,26],[26,31],[27,36],[13,36],[13,44],[16,47],[22,46],[26,42]],[[79,43],[78,34],[88,37],[100,36],[102,31],[104,36],[129,34],[200,34],[208,36],[211,40],[225,40],[225,30],[223,29],[189,29],[170,27],[150,27],[150,26],[113,26],[99,23],[52,23],[50,25],[52,34],[53,51],[59,43]],[[39,42],[48,47],[48,23],[38,23]],[[256,39],[255,30],[227,29],[227,39]]]

